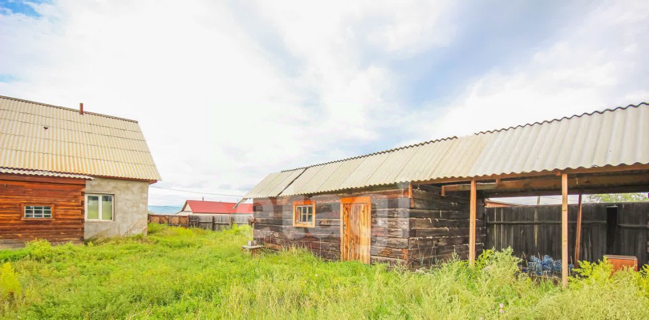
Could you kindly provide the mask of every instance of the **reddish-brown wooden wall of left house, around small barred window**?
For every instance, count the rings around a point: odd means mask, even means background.
[[[0,175],[0,247],[36,238],[83,241],[85,180]],[[22,205],[53,206],[51,219],[25,219]]]

